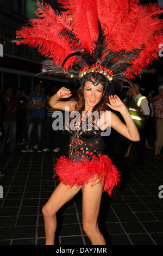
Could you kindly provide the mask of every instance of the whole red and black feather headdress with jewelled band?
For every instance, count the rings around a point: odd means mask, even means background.
[[[83,77],[99,72],[129,81],[158,59],[162,43],[159,4],[137,0],[58,0],[65,12],[36,0],[36,15],[17,31],[17,45],[38,47],[46,74]],[[79,71],[80,70],[80,71]],[[44,73],[44,74],[45,74]]]

